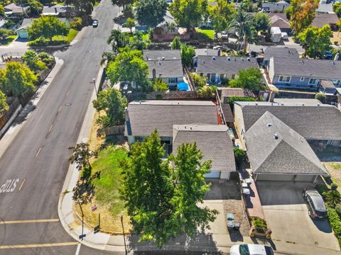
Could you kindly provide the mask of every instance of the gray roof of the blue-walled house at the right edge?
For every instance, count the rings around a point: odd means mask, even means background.
[[[274,57],[274,74],[318,79],[341,79],[341,61]]]

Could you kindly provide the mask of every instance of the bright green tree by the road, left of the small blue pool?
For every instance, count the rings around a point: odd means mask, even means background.
[[[151,88],[148,81],[148,64],[144,62],[140,50],[124,50],[116,59],[109,63],[107,75],[112,84],[117,81],[130,81],[136,89],[138,86],[144,91]]]

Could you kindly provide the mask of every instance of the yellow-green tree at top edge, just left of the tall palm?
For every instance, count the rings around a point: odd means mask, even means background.
[[[208,11],[215,35],[227,29],[227,24],[232,21],[237,12],[234,4],[229,4],[225,0],[218,0],[216,6],[209,6]]]

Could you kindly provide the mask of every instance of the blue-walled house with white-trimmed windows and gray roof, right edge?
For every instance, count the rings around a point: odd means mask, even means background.
[[[277,87],[317,89],[321,79],[341,86],[341,61],[271,57],[268,72],[271,83]]]

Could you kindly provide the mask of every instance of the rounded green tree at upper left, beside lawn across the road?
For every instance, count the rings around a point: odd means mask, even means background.
[[[31,39],[48,38],[52,41],[55,35],[67,35],[68,28],[55,16],[41,16],[36,18],[28,28],[28,35]]]

